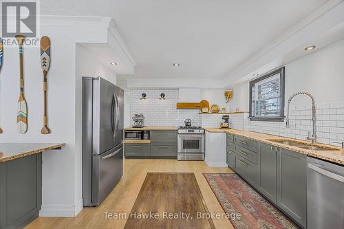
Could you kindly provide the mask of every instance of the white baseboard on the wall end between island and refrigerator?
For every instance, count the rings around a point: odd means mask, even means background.
[[[42,204],[39,217],[76,217],[83,210],[83,199],[78,204]]]

